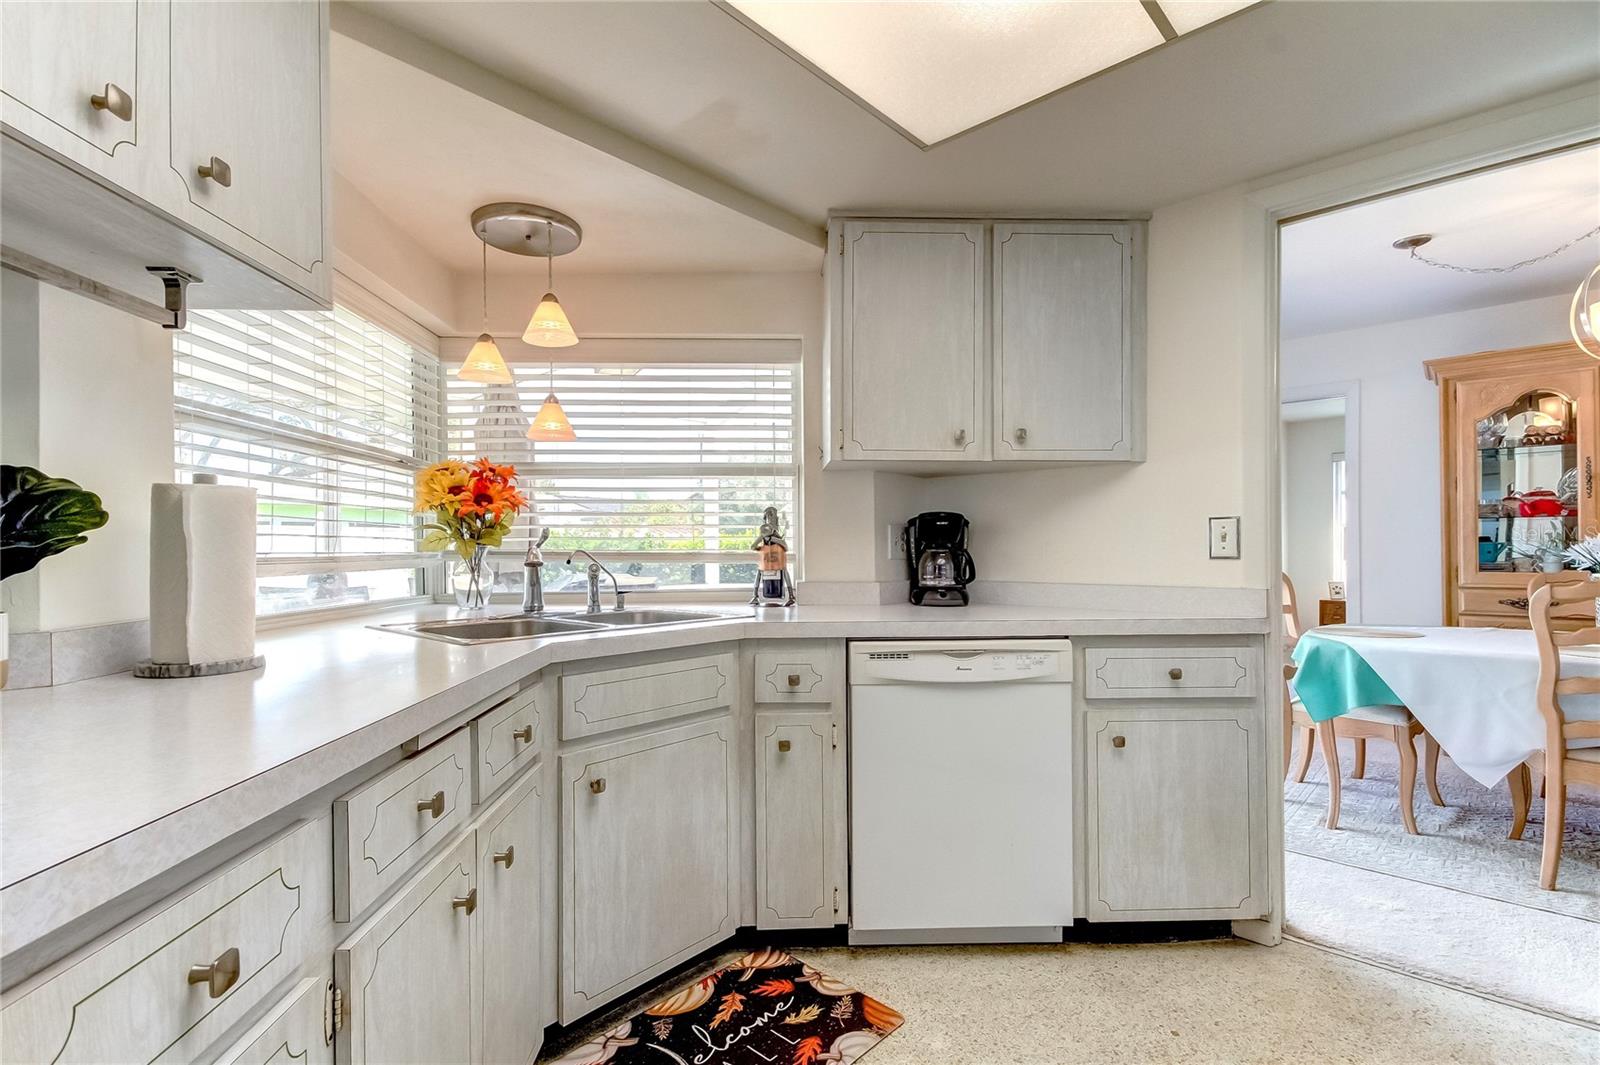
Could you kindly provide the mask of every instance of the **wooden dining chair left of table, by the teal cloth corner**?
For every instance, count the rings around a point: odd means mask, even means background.
[[[1434,806],[1443,806],[1445,798],[1438,792],[1438,740],[1422,728],[1422,724],[1405,707],[1355,707],[1331,721],[1312,721],[1304,704],[1294,699],[1290,680],[1296,665],[1291,660],[1294,643],[1299,641],[1299,609],[1294,596],[1294,582],[1288,574],[1282,580],[1283,600],[1283,772],[1290,771],[1290,753],[1293,732],[1304,734],[1301,740],[1299,766],[1294,771],[1294,782],[1302,784],[1310,769],[1312,750],[1322,740],[1323,764],[1328,766],[1328,828],[1339,827],[1339,801],[1342,798],[1342,769],[1339,766],[1339,739],[1347,739],[1355,747],[1355,764],[1350,777],[1360,780],[1366,776],[1366,740],[1386,739],[1395,745],[1400,755],[1400,820],[1405,830],[1416,836],[1416,737],[1422,737],[1422,779],[1427,784],[1427,796]]]

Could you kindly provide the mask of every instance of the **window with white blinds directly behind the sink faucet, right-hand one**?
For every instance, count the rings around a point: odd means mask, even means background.
[[[798,558],[798,341],[586,337],[563,355],[554,368],[514,361],[509,385],[448,384],[448,453],[515,464],[528,496],[498,552],[498,592],[520,584],[536,526],[550,529],[550,592],[582,588],[581,569],[560,563],[584,548],[624,590],[746,596],[770,505]],[[573,441],[526,438],[550,390]]]

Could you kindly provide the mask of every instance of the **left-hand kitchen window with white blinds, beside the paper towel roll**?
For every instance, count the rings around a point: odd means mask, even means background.
[[[427,592],[411,493],[440,456],[440,363],[368,307],[190,310],[173,339],[179,475],[258,493],[259,616]]]

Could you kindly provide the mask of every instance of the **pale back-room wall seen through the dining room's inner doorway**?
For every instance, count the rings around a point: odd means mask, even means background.
[[[1317,600],[1333,580],[1333,456],[1344,451],[1344,419],[1283,427],[1283,571],[1299,600],[1299,630],[1317,624]]]

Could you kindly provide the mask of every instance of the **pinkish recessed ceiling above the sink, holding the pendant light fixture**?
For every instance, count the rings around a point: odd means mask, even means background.
[[[478,273],[483,246],[469,219],[501,200],[542,203],[582,225],[582,246],[557,259],[557,277],[821,262],[795,237],[338,34],[331,69],[334,170],[454,272]],[[544,269],[490,249],[496,275]]]

